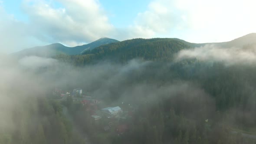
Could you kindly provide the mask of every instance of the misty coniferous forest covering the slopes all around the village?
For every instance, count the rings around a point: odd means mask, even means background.
[[[17,66],[19,74],[12,74],[17,83],[11,83],[16,90],[1,89],[15,105],[3,118],[10,125],[1,125],[0,144],[89,143],[84,134],[92,144],[256,143],[254,62],[179,59],[182,50],[200,46],[180,39],[131,39],[53,56],[47,58],[54,60],[51,65],[32,70]],[[254,52],[254,45],[242,49]],[[20,78],[23,74],[29,76]],[[26,92],[20,93],[20,84]],[[56,96],[56,87],[81,87],[103,101],[98,109],[118,105],[129,116],[104,131],[108,120],[92,120],[89,107],[76,96]],[[16,99],[17,94],[23,96]],[[115,124],[126,125],[125,132],[117,134]]]

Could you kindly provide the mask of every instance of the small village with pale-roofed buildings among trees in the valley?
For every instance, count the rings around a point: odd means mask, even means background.
[[[106,105],[103,100],[92,96],[89,92],[83,92],[81,88],[68,92],[56,88],[54,94],[59,95],[61,101],[72,97],[74,103],[81,104],[82,109],[90,115],[90,123],[103,133],[114,133],[120,136],[129,131],[130,121],[135,111],[130,104],[121,102],[119,105]]]

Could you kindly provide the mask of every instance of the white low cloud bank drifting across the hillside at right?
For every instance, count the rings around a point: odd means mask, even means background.
[[[256,62],[256,46],[221,48],[214,45],[181,50],[176,60],[196,58],[207,62],[224,62],[226,65],[252,64]]]

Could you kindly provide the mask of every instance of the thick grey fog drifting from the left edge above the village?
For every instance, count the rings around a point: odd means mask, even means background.
[[[145,81],[132,84],[131,78],[141,75],[142,70],[151,63],[133,59],[126,65],[100,62],[96,65],[74,67],[52,58],[29,56],[17,60],[2,57],[0,127],[12,125],[11,111],[16,107],[23,108],[26,98],[46,97],[54,88],[72,90],[81,87],[98,98],[113,96],[116,98],[112,101],[113,106],[121,104],[122,101],[140,103],[146,100],[154,103],[159,98],[186,93],[207,95],[189,82],[179,81],[161,87]]]

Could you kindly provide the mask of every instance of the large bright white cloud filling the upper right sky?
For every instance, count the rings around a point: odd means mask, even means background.
[[[256,32],[255,5],[253,0],[153,0],[138,13],[131,34],[194,43],[229,41]]]

